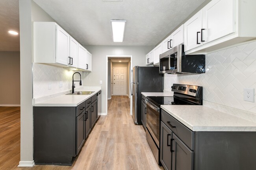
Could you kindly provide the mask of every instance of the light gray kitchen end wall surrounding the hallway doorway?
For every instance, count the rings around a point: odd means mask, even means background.
[[[86,86],[102,86],[102,113],[106,113],[107,55],[132,55],[132,66],[145,66],[145,55],[154,46],[84,46],[92,56],[92,72],[85,73]],[[102,84],[100,84],[102,80]]]

